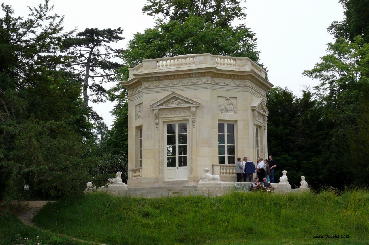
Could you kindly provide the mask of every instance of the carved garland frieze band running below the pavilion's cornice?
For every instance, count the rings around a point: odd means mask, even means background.
[[[152,88],[158,86],[169,86],[171,85],[186,85],[186,84],[197,84],[197,83],[210,83],[210,84],[220,84],[220,85],[236,85],[236,86],[246,86],[250,87],[256,92],[261,93],[262,95],[266,96],[266,91],[260,88],[259,86],[255,85],[249,80],[239,80],[239,79],[224,79],[224,78],[197,78],[197,79],[176,79],[176,80],[169,80],[169,81],[157,81],[157,82],[144,82],[142,86],[144,88]],[[139,91],[138,91],[139,92]],[[131,92],[132,94],[134,92]],[[136,93],[136,92],[135,92]],[[128,90],[128,95],[130,94],[130,90]]]

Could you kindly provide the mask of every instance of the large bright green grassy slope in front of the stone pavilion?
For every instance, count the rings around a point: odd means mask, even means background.
[[[369,192],[156,199],[94,193],[48,203],[34,221],[105,244],[367,244]],[[332,234],[340,237],[325,238]]]

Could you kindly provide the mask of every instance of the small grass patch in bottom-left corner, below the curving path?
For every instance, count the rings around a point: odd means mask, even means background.
[[[0,245],[36,245],[37,243],[40,243],[40,245],[87,245],[85,242],[73,241],[66,236],[54,235],[27,226],[21,223],[13,214],[0,214]]]

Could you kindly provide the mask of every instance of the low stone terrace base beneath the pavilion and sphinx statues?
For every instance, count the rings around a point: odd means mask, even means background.
[[[308,188],[291,189],[289,184],[272,184],[275,193],[304,192]],[[199,182],[197,185],[188,183],[155,184],[153,187],[132,187],[127,185],[109,185],[99,188],[97,192],[106,192],[115,196],[130,195],[132,197],[160,198],[170,196],[223,196],[234,192],[234,182]]]

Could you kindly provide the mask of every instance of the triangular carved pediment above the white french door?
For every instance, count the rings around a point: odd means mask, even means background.
[[[161,100],[158,100],[150,107],[151,109],[161,109],[171,107],[194,107],[199,105],[199,102],[173,92],[163,97]]]

